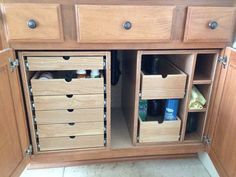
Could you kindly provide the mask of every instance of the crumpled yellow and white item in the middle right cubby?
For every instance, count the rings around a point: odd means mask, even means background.
[[[191,92],[191,99],[189,102],[189,109],[203,109],[205,104],[206,104],[206,99],[197,89],[197,87],[193,86]]]

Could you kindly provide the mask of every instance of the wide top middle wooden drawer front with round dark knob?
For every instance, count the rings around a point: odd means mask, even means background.
[[[174,9],[175,6],[77,5],[78,42],[170,41]]]

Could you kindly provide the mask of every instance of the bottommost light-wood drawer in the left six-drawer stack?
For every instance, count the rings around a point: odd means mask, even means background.
[[[53,151],[104,146],[103,135],[39,138],[40,151]]]

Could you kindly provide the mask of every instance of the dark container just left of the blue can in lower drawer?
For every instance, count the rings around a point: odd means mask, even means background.
[[[148,100],[148,116],[160,116],[162,114],[162,100]]]

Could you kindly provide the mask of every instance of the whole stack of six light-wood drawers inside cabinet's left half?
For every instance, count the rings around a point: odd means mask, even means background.
[[[38,151],[106,146],[108,60],[83,52],[25,58],[32,76],[28,84]],[[86,78],[63,78],[63,73],[77,70],[86,70]],[[100,76],[90,78],[91,70],[99,70]],[[41,79],[44,72],[55,77]]]

